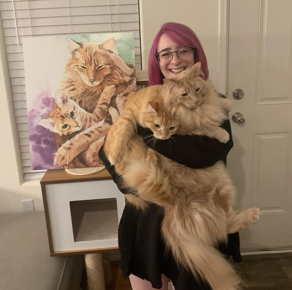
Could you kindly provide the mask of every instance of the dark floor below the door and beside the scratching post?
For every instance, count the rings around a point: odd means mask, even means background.
[[[252,255],[242,258],[241,263],[233,263],[241,276],[242,289],[292,290],[292,253]],[[131,290],[129,280],[122,277],[119,262],[111,262],[111,265],[112,282],[106,289]]]

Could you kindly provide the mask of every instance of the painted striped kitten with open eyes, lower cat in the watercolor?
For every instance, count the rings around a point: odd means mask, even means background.
[[[49,116],[38,122],[38,125],[70,138],[57,150],[54,164],[66,167],[78,156],[83,166],[102,165],[97,153],[110,129],[111,122],[105,122],[103,115],[105,112],[102,114],[100,107],[110,102],[115,91],[114,85],[106,87],[93,113],[86,112],[61,93],[55,93],[55,105]],[[111,112],[117,114],[114,109]]]

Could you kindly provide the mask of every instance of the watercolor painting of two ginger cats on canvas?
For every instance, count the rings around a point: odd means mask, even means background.
[[[103,165],[98,151],[136,90],[132,33],[23,39],[32,170]]]

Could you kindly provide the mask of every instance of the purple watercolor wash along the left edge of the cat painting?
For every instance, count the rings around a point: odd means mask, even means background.
[[[53,132],[37,125],[40,119],[47,118],[54,107],[55,99],[51,96],[51,88],[39,93],[34,100],[34,109],[27,114],[32,170],[61,168],[53,165],[57,151]]]

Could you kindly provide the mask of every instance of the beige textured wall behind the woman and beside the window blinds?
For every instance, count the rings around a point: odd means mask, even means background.
[[[219,0],[140,0],[143,67],[150,46],[164,22],[180,22],[192,28],[207,56],[210,81],[219,85]],[[21,199],[33,198],[43,211],[39,180],[24,181],[16,117],[0,24],[0,213],[21,212]]]

